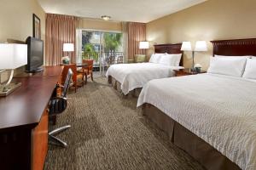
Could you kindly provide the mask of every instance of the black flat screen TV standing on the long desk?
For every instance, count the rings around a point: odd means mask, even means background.
[[[43,71],[42,65],[44,65],[44,41],[34,38],[27,37],[27,72],[38,72]]]

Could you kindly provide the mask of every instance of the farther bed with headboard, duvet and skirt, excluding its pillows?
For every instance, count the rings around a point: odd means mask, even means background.
[[[159,54],[182,54],[181,44],[161,44],[155,45],[155,53]],[[183,59],[180,64],[183,65]],[[138,96],[144,84],[153,79],[173,77],[176,69],[182,66],[170,66],[156,63],[134,63],[112,65],[108,68],[106,76],[108,83],[113,84],[113,88],[118,89],[123,94],[134,94]]]

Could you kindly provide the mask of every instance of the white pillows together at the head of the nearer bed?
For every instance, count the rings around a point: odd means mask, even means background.
[[[215,55],[207,72],[256,79],[256,57]]]

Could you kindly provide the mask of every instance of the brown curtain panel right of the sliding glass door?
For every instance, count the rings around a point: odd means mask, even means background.
[[[146,40],[146,24],[129,22],[128,32],[128,59],[134,59],[135,54],[146,54],[145,49],[139,48],[139,42]]]

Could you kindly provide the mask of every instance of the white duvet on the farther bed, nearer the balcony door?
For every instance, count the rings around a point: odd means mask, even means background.
[[[167,66],[155,63],[135,63],[111,65],[106,76],[111,76],[121,83],[121,90],[128,94],[135,88],[143,88],[144,84],[153,79],[173,76],[174,69],[180,66]]]

